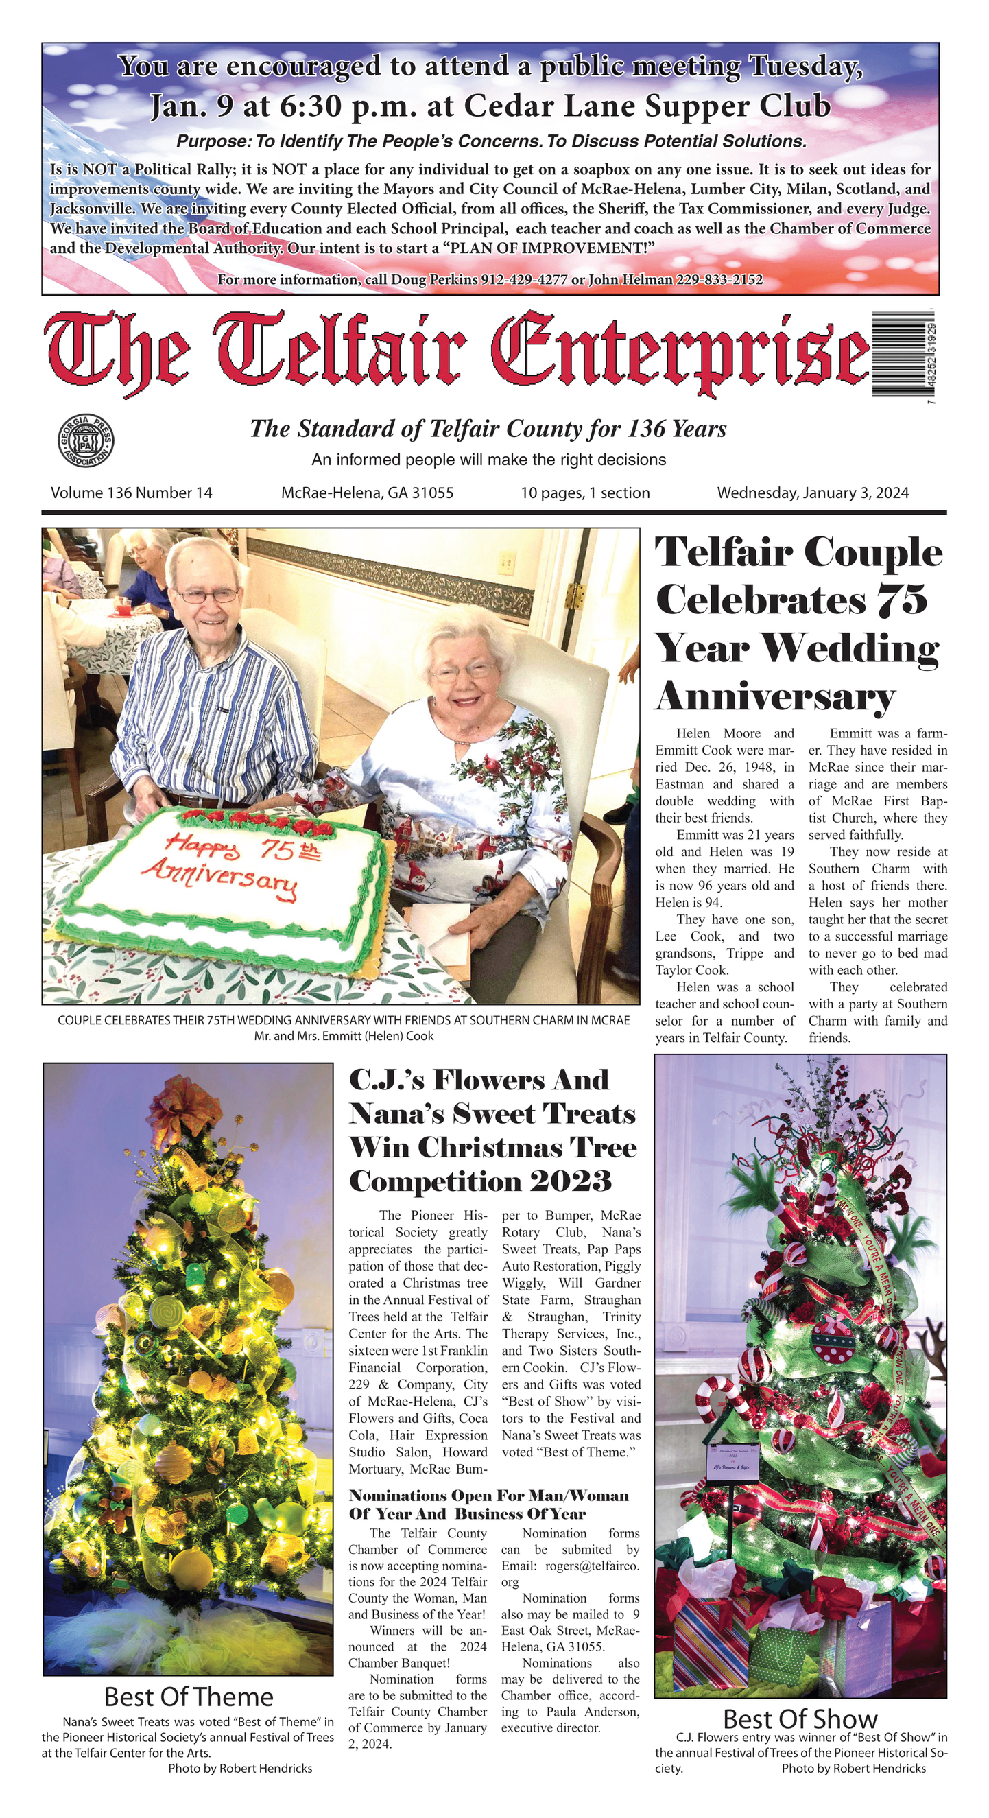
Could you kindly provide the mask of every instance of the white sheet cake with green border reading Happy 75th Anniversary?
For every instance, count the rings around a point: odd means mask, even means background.
[[[69,893],[56,933],[96,947],[376,978],[395,849],[365,827],[165,807]]]

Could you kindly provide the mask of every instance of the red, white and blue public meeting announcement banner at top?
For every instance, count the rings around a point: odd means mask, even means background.
[[[936,44],[42,49],[45,295],[938,295]]]

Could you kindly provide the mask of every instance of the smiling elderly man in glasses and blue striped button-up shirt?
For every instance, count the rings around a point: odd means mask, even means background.
[[[144,638],[111,764],[140,822],[169,804],[240,807],[313,780],[298,682],[240,624],[242,569],[224,544],[175,544],[165,582],[180,631]]]

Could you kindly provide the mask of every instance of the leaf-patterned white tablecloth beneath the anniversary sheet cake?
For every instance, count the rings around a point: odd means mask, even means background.
[[[78,884],[105,845],[49,853],[44,862],[42,927],[51,929],[73,884]],[[375,980],[289,973],[275,965],[191,960],[124,947],[89,947],[75,940],[45,940],[42,947],[45,1004],[471,1004],[464,985],[409,933],[396,909],[387,913],[382,971]]]

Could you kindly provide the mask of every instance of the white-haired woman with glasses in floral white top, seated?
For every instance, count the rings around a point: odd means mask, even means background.
[[[393,900],[465,904],[471,994],[504,1004],[567,882],[571,824],[553,729],[502,694],[514,640],[491,613],[438,613],[416,645],[429,693],[385,720],[349,771],[293,800],[311,813],[384,796]]]

